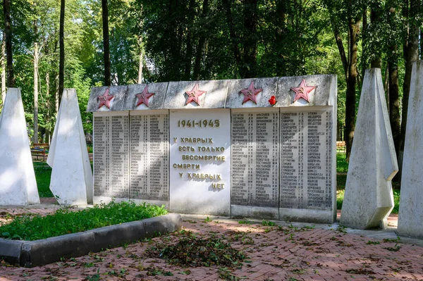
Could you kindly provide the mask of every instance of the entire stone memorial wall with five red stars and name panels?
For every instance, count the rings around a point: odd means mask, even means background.
[[[336,76],[93,88],[94,202],[331,223]]]

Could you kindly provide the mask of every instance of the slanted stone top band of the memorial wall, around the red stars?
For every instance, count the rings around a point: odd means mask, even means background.
[[[299,87],[302,80],[307,86],[316,86],[309,93],[309,103],[300,99],[294,101],[295,92],[291,88]],[[257,94],[257,104],[247,101],[243,104],[243,94],[240,90],[247,89],[250,83],[254,83],[255,89],[262,89]],[[160,82],[140,85],[110,86],[110,94],[116,96],[111,102],[111,108],[98,108],[97,96],[104,94],[107,87],[93,87],[87,104],[87,112],[97,111],[125,111],[125,110],[154,110],[154,109],[198,109],[198,108],[266,108],[271,96],[276,96],[274,107],[291,106],[336,106],[336,92],[332,92],[333,82],[336,75],[306,75],[292,77],[263,77],[238,80],[201,80],[201,81],[178,81]],[[206,94],[199,96],[200,105],[195,102],[186,105],[186,91],[193,89],[196,84]],[[139,93],[145,87],[149,92],[154,92],[149,107],[141,104],[137,108],[135,93]],[[166,92],[165,92],[166,90]],[[207,92],[209,93],[207,95]],[[116,100],[115,100],[116,99]],[[336,112],[336,111],[335,111]]]

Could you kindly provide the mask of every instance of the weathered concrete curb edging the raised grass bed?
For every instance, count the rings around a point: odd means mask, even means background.
[[[43,266],[60,261],[60,258],[84,256],[90,252],[156,237],[181,228],[182,217],[178,213],[171,213],[35,241],[0,239],[0,256],[13,265]]]

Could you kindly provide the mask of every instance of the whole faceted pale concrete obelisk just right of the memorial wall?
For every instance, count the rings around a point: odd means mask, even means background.
[[[393,209],[391,180],[398,172],[381,70],[366,70],[341,211],[341,224],[386,226]]]

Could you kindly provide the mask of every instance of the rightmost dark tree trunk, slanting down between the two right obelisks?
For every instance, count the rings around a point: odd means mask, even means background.
[[[409,21],[408,36],[405,39],[403,54],[405,59],[405,75],[403,83],[403,112],[401,118],[401,132],[400,132],[400,148],[398,151],[398,166],[400,168],[398,172],[398,178],[401,177],[401,168],[403,167],[403,154],[404,154],[404,143],[405,143],[405,129],[407,127],[407,113],[408,113],[408,96],[410,94],[410,81],[412,63],[417,61],[419,58],[419,25],[415,18],[419,15],[420,1],[410,0],[410,10],[407,7],[403,8],[405,18]]]

